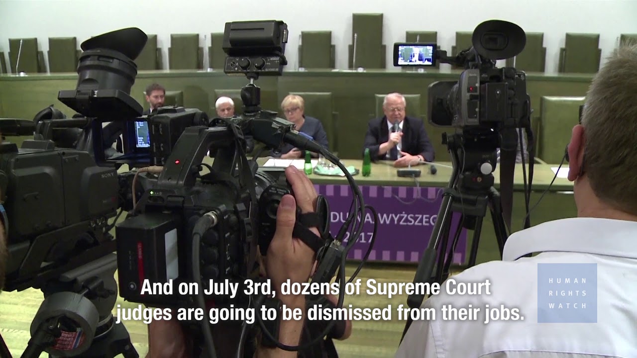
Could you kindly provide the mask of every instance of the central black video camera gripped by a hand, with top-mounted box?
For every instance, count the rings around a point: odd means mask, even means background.
[[[269,150],[278,151],[285,143],[318,152],[339,166],[354,192],[352,213],[334,238],[329,231],[329,208],[324,197],[317,201],[317,213],[297,214],[295,236],[317,253],[318,265],[312,281],[329,282],[340,267],[340,283],[345,283],[345,258],[357,240],[341,245],[348,230],[354,238],[362,231],[364,208],[362,194],[347,169],[333,154],[313,140],[294,130],[294,124],[276,117],[276,112],[261,110],[260,89],[254,82],[259,76],[282,75],[287,43],[287,25],[280,21],[232,22],[225,24],[224,52],[226,74],[243,74],[250,83],[241,89],[244,113],[241,117],[212,118],[200,125],[191,124],[183,130],[171,152],[158,152],[155,136],[161,131],[149,117],[150,157],[162,159],[161,173],[139,174],[145,180],[145,192],[124,222],[118,224],[117,257],[120,296],[127,301],[147,306],[171,308],[201,308],[213,303],[215,308],[277,305],[256,292],[244,294],[247,285],[255,287],[254,275],[257,246],[262,254],[268,250],[276,227],[276,211],[285,194],[292,188],[283,175],[283,168],[259,168],[256,159],[248,161],[245,147],[248,137]],[[161,111],[161,110],[160,110]],[[134,137],[134,131],[124,138]],[[159,133],[157,133],[159,131]],[[166,138],[162,137],[162,140]],[[124,146],[125,147],[125,146]],[[206,154],[214,155],[212,164]],[[257,155],[258,157],[258,155]],[[155,160],[155,164],[160,164]],[[208,169],[205,173],[204,168]],[[145,178],[145,179],[144,179]],[[369,208],[369,207],[368,207]],[[370,208],[373,211],[373,209]],[[318,226],[321,237],[307,227]],[[350,226],[351,229],[350,229]],[[211,294],[212,282],[236,283],[238,295]],[[145,287],[172,285],[173,293],[148,295]],[[183,294],[177,287],[198,288],[193,294]],[[182,286],[183,287],[183,286]],[[345,290],[341,287],[338,306],[342,306]],[[278,342],[278,324],[263,322],[257,313],[266,344],[285,350],[299,350],[322,340],[331,329],[315,340],[298,347]],[[250,324],[241,327],[238,356],[242,355]],[[215,357],[217,350],[207,320],[186,322],[199,353]]]

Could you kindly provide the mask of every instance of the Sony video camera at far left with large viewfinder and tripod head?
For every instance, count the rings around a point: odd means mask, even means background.
[[[141,114],[129,96],[137,73],[132,60],[147,39],[140,32],[125,29],[82,43],[77,88],[58,96],[79,112],[76,117],[64,118],[51,106],[31,124],[0,121],[13,134],[35,131],[20,149],[0,145],[9,252],[4,290],[34,287],[45,296],[22,357],[39,357],[43,350],[53,357],[138,357],[124,325],[111,314],[117,247],[109,231],[122,213],[118,208],[126,206],[120,196],[126,190],[120,190],[116,168],[97,165],[94,154],[103,155],[101,134],[107,131],[99,126],[94,146],[92,129],[96,118]]]

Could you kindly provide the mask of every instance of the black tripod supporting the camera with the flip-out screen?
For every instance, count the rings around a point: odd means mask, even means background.
[[[491,213],[497,245],[502,255],[508,234],[499,192],[493,187],[492,172],[496,167],[497,142],[497,133],[493,132],[476,134],[465,131],[451,136],[443,134],[443,143],[447,144],[451,154],[453,171],[448,187],[443,191],[438,219],[434,224],[429,245],[416,269],[413,283],[443,283],[447,280],[462,227],[473,230],[468,268],[475,265],[482,220],[487,208]],[[451,247],[448,248],[453,213],[460,213],[461,216]],[[424,294],[412,294],[408,296],[407,304],[410,308],[417,309],[423,300]],[[412,319],[409,317],[404,327],[403,338],[411,324]]]

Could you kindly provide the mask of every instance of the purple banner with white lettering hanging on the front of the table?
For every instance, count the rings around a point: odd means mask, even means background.
[[[349,215],[352,189],[349,185],[314,185],[318,194],[327,197],[331,211],[330,231],[336,235]],[[378,211],[378,231],[368,261],[418,262],[427,247],[442,203],[440,187],[361,186],[364,204]],[[348,254],[349,259],[362,259],[369,248],[374,231],[373,215],[365,211],[361,238]],[[459,215],[454,215],[450,238],[453,238]],[[350,240],[346,234],[347,240]],[[451,242],[447,249],[450,250]],[[467,233],[462,229],[454,252],[454,263],[466,257]]]

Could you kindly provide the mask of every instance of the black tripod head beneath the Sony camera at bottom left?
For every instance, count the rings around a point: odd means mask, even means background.
[[[111,311],[117,299],[117,257],[108,254],[41,287],[45,300],[31,322],[23,358],[138,358],[122,322]]]

